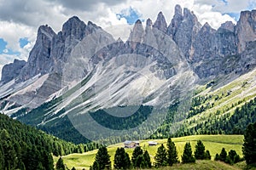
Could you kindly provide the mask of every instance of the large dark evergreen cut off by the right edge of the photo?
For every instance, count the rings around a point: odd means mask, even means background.
[[[250,124],[244,133],[242,153],[247,165],[256,167],[256,122]]]

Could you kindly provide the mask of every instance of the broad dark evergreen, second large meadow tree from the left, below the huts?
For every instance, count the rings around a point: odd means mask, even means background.
[[[124,148],[118,148],[115,151],[113,167],[115,169],[127,169],[131,167],[131,161],[129,155],[125,152]]]

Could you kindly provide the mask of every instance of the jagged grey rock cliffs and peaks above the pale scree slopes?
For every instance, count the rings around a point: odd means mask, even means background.
[[[28,61],[15,60],[3,67],[1,83],[15,79],[15,84],[1,86],[0,98],[34,108],[61,93],[63,82],[79,82],[94,71],[114,75],[111,69],[124,64],[146,67],[159,81],[177,77],[181,68],[194,71],[202,80],[230,72],[242,74],[256,65],[255,26],[256,10],[241,12],[236,26],[228,21],[214,30],[207,23],[201,26],[193,12],[177,5],[169,26],[160,12],[154,22],[146,21],[145,28],[137,20],[128,41],[122,42],[92,22],[85,24],[74,16],[57,34],[49,26],[39,27]],[[115,69],[125,76],[133,74]]]

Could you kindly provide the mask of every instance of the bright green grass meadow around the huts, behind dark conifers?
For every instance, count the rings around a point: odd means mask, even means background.
[[[186,142],[190,142],[192,145],[192,149],[195,150],[195,144],[197,140],[201,140],[203,144],[206,146],[206,150],[209,150],[212,156],[212,161],[196,161],[195,164],[177,164],[172,169],[241,169],[237,166],[229,166],[224,164],[223,162],[213,161],[214,156],[217,153],[220,153],[222,148],[225,150],[236,150],[237,154],[242,156],[241,152],[241,144],[243,144],[243,136],[242,135],[194,135],[187,136],[181,138],[173,138],[172,141],[176,144],[177,152],[179,156],[179,160],[181,160],[181,156],[183,154],[183,147]],[[151,156],[152,161],[154,161],[154,156],[157,148],[160,144],[166,145],[167,139],[156,139],[154,140],[158,144],[156,146],[148,146],[149,140],[141,140],[140,145],[143,150],[148,150],[149,155]],[[124,144],[113,144],[108,146],[108,153],[111,156],[111,161],[113,163],[113,156],[115,150],[118,147],[123,147]],[[133,149],[125,149],[128,154],[132,155]],[[85,152],[83,154],[71,154],[68,156],[62,156],[64,163],[68,168],[76,167],[76,169],[88,169],[90,165],[93,163],[97,150],[92,150],[89,152]],[[54,157],[54,161],[56,162],[58,157]],[[191,167],[192,166],[192,167]],[[168,169],[166,167],[166,169]]]

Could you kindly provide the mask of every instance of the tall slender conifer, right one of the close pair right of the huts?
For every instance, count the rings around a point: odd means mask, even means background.
[[[169,166],[172,166],[173,163],[177,163],[177,162],[178,162],[178,158],[177,158],[176,146],[175,146],[174,142],[172,142],[172,139],[168,138],[168,140],[167,140],[167,163]]]

